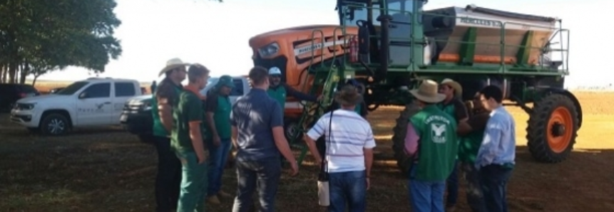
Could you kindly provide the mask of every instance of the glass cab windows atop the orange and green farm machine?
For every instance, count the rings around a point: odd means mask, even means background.
[[[339,24],[344,26],[358,26],[357,21],[369,21],[374,26],[379,26],[377,17],[380,14],[388,13],[404,14],[410,16],[414,9],[414,1],[416,0],[387,0],[386,5],[380,4],[382,1],[370,0],[338,0],[337,10],[339,11]],[[421,0],[417,0],[421,1]],[[388,10],[388,11],[386,11]]]

